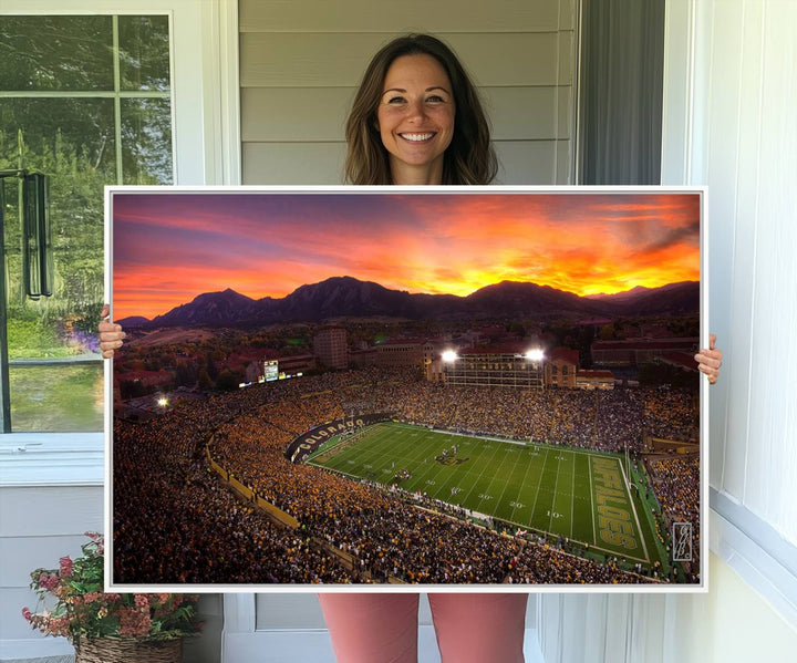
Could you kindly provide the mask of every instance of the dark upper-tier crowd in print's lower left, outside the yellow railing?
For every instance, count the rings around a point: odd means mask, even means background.
[[[121,583],[346,582],[301,532],[276,527],[208,469],[204,443],[240,400],[114,425],[114,579]]]

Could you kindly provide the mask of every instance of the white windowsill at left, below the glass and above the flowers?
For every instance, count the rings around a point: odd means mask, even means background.
[[[102,433],[0,435],[0,487],[102,486]]]

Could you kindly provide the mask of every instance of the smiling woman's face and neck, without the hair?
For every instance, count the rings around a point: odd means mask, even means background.
[[[394,184],[441,184],[443,154],[454,136],[453,92],[431,55],[402,55],[391,64],[376,121]]]

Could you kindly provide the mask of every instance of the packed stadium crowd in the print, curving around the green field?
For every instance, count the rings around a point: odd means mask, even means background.
[[[666,410],[658,396],[446,389],[408,373],[371,369],[215,395],[144,424],[116,419],[114,579],[147,584],[645,581],[544,541],[475,527],[444,509],[418,508],[368,483],[291,464],[284,449],[297,435],[343,416],[352,403],[441,428],[607,450],[630,443],[639,449],[656,412]],[[689,431],[677,419],[655,419],[655,425],[662,434]],[[300,528],[275,525],[236,498],[209,469],[206,447],[225,475],[297,518]],[[332,548],[351,556],[353,566],[341,563]]]

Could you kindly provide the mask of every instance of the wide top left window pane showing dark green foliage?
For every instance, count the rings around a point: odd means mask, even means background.
[[[111,17],[0,17],[0,90],[113,90]]]

